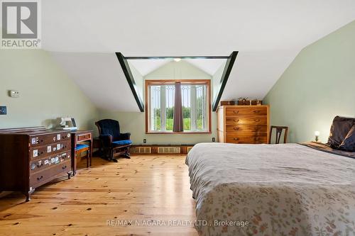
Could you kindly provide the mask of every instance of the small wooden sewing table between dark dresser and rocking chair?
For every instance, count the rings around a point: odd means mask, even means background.
[[[92,130],[75,130],[71,132],[72,134],[72,173],[73,175],[77,172],[77,157],[75,147],[80,142],[89,142],[89,150],[87,154],[87,167],[91,167],[92,162]]]

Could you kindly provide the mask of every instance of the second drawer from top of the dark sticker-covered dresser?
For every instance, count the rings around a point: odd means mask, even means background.
[[[70,150],[71,142],[56,142],[51,145],[31,147],[30,157],[31,159],[40,159],[49,155],[57,154],[66,150]]]

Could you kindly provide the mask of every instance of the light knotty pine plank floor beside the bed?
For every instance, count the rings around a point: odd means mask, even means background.
[[[0,198],[0,235],[197,235],[185,156],[93,158],[90,169],[24,200]]]

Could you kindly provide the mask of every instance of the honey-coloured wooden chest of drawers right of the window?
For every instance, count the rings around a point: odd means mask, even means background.
[[[269,106],[219,106],[219,142],[268,143]]]

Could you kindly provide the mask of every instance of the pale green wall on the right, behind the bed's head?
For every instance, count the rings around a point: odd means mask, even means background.
[[[327,142],[334,116],[355,117],[355,21],[305,47],[264,101],[271,125],[288,125],[290,142]]]

